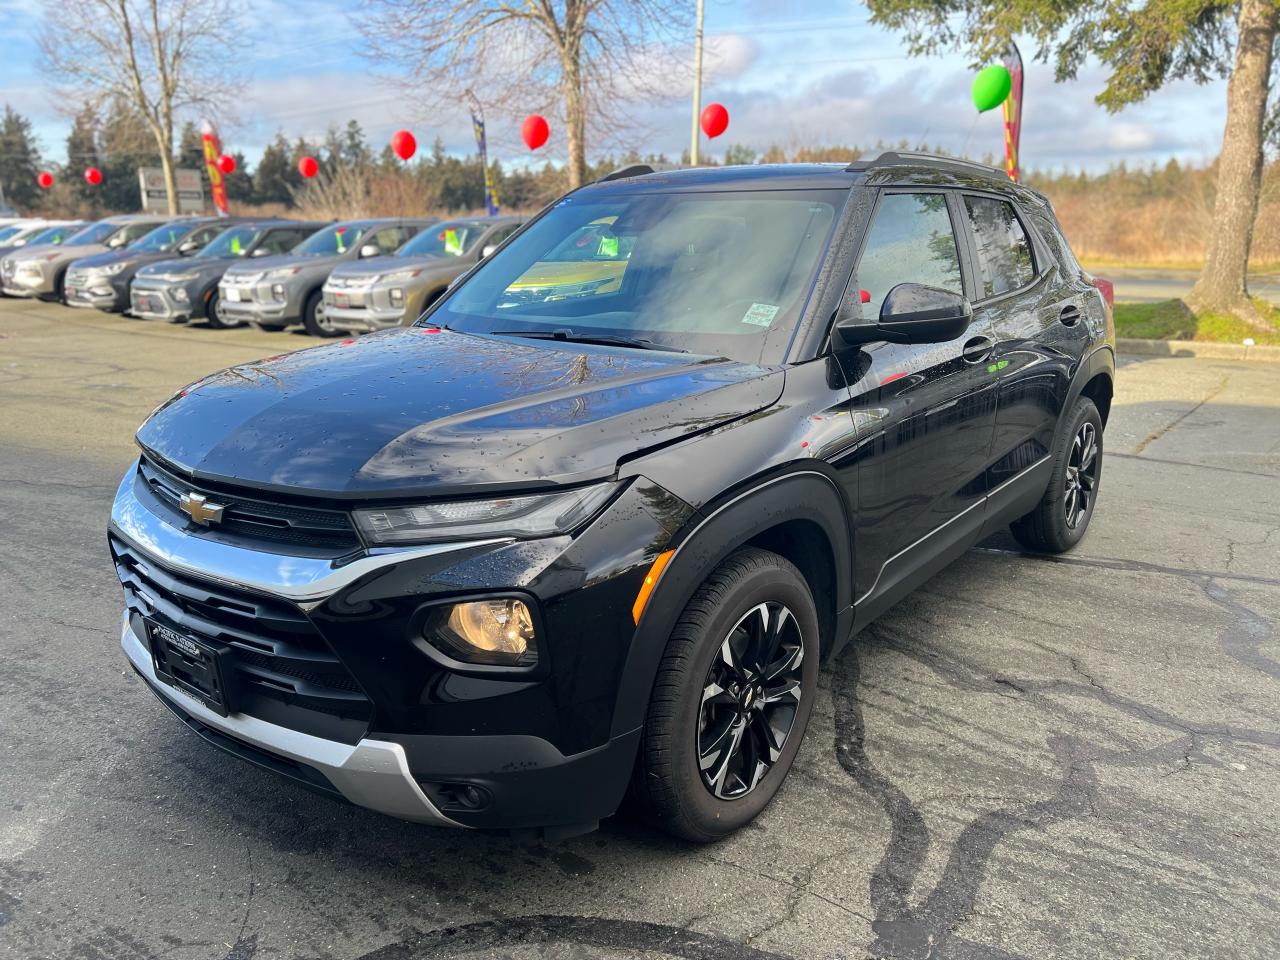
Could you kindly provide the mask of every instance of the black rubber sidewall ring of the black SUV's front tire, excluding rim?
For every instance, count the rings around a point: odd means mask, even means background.
[[[804,641],[801,696],[796,717],[787,735],[782,755],[756,787],[746,796],[721,800],[703,783],[698,764],[698,721],[701,691],[712,660],[730,630],[753,607],[765,600],[785,603],[800,625]],[[804,739],[818,684],[818,617],[808,586],[786,567],[758,568],[735,584],[698,640],[698,652],[684,677],[677,714],[677,730],[686,733],[675,740],[673,760],[676,794],[686,820],[696,824],[709,838],[733,832],[754,819],[777,794],[786,780],[800,742]]]

